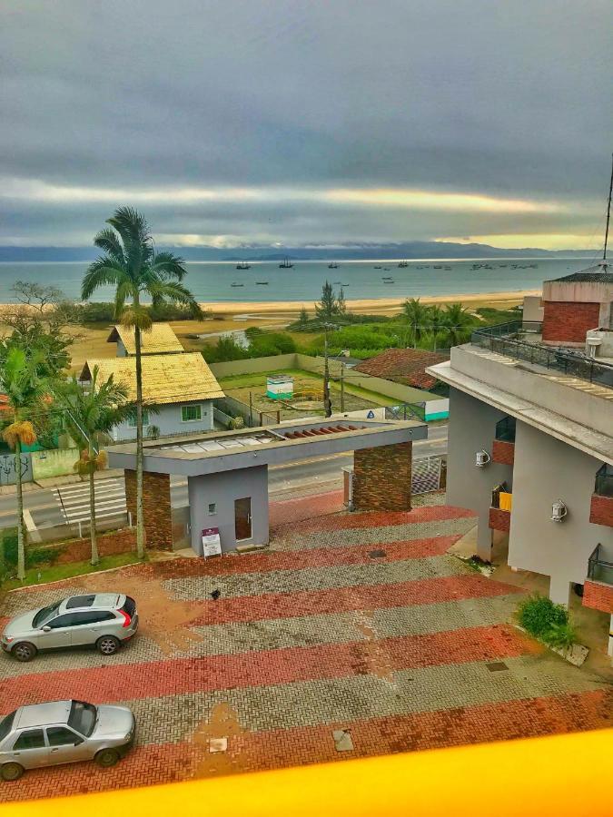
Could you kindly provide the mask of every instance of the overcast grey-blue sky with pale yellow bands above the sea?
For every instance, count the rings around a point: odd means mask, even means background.
[[[594,248],[610,0],[2,0],[0,244]]]

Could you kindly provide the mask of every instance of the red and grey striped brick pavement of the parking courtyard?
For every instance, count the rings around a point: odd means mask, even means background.
[[[266,552],[8,594],[5,616],[84,590],[136,597],[141,631],[112,658],[0,655],[0,710],[63,697],[123,703],[138,738],[113,769],[28,772],[4,783],[0,800],[611,724],[603,678],[513,627],[519,589],[447,554],[474,525],[470,512],[331,513],[337,500],[313,497],[311,513],[307,500],[277,503]],[[338,751],[334,730],[350,733],[349,751]],[[216,738],[225,751],[211,751]]]

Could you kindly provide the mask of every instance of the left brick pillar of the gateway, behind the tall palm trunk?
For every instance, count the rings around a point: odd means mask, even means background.
[[[125,469],[125,501],[136,525],[136,471]],[[153,550],[173,549],[173,512],[168,474],[143,473],[144,541]]]

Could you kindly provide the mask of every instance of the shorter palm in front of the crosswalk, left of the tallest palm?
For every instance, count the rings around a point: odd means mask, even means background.
[[[100,561],[95,529],[95,480],[94,473],[106,467],[106,454],[99,450],[103,434],[121,423],[133,413],[128,403],[128,389],[123,383],[115,383],[113,375],[98,385],[98,367],[94,367],[89,389],[73,377],[59,389],[59,401],[64,408],[64,422],[70,436],[80,442],[81,456],[74,463],[74,469],[82,476],[89,477],[90,540],[92,543],[92,565]]]

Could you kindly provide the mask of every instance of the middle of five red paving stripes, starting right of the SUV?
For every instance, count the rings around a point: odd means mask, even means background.
[[[234,596],[199,603],[203,614],[192,626],[293,618],[300,615],[348,613],[352,610],[387,609],[410,605],[434,605],[460,598],[484,598],[522,593],[485,576],[443,576],[390,585],[332,587],[295,593],[268,593],[262,596]]]

